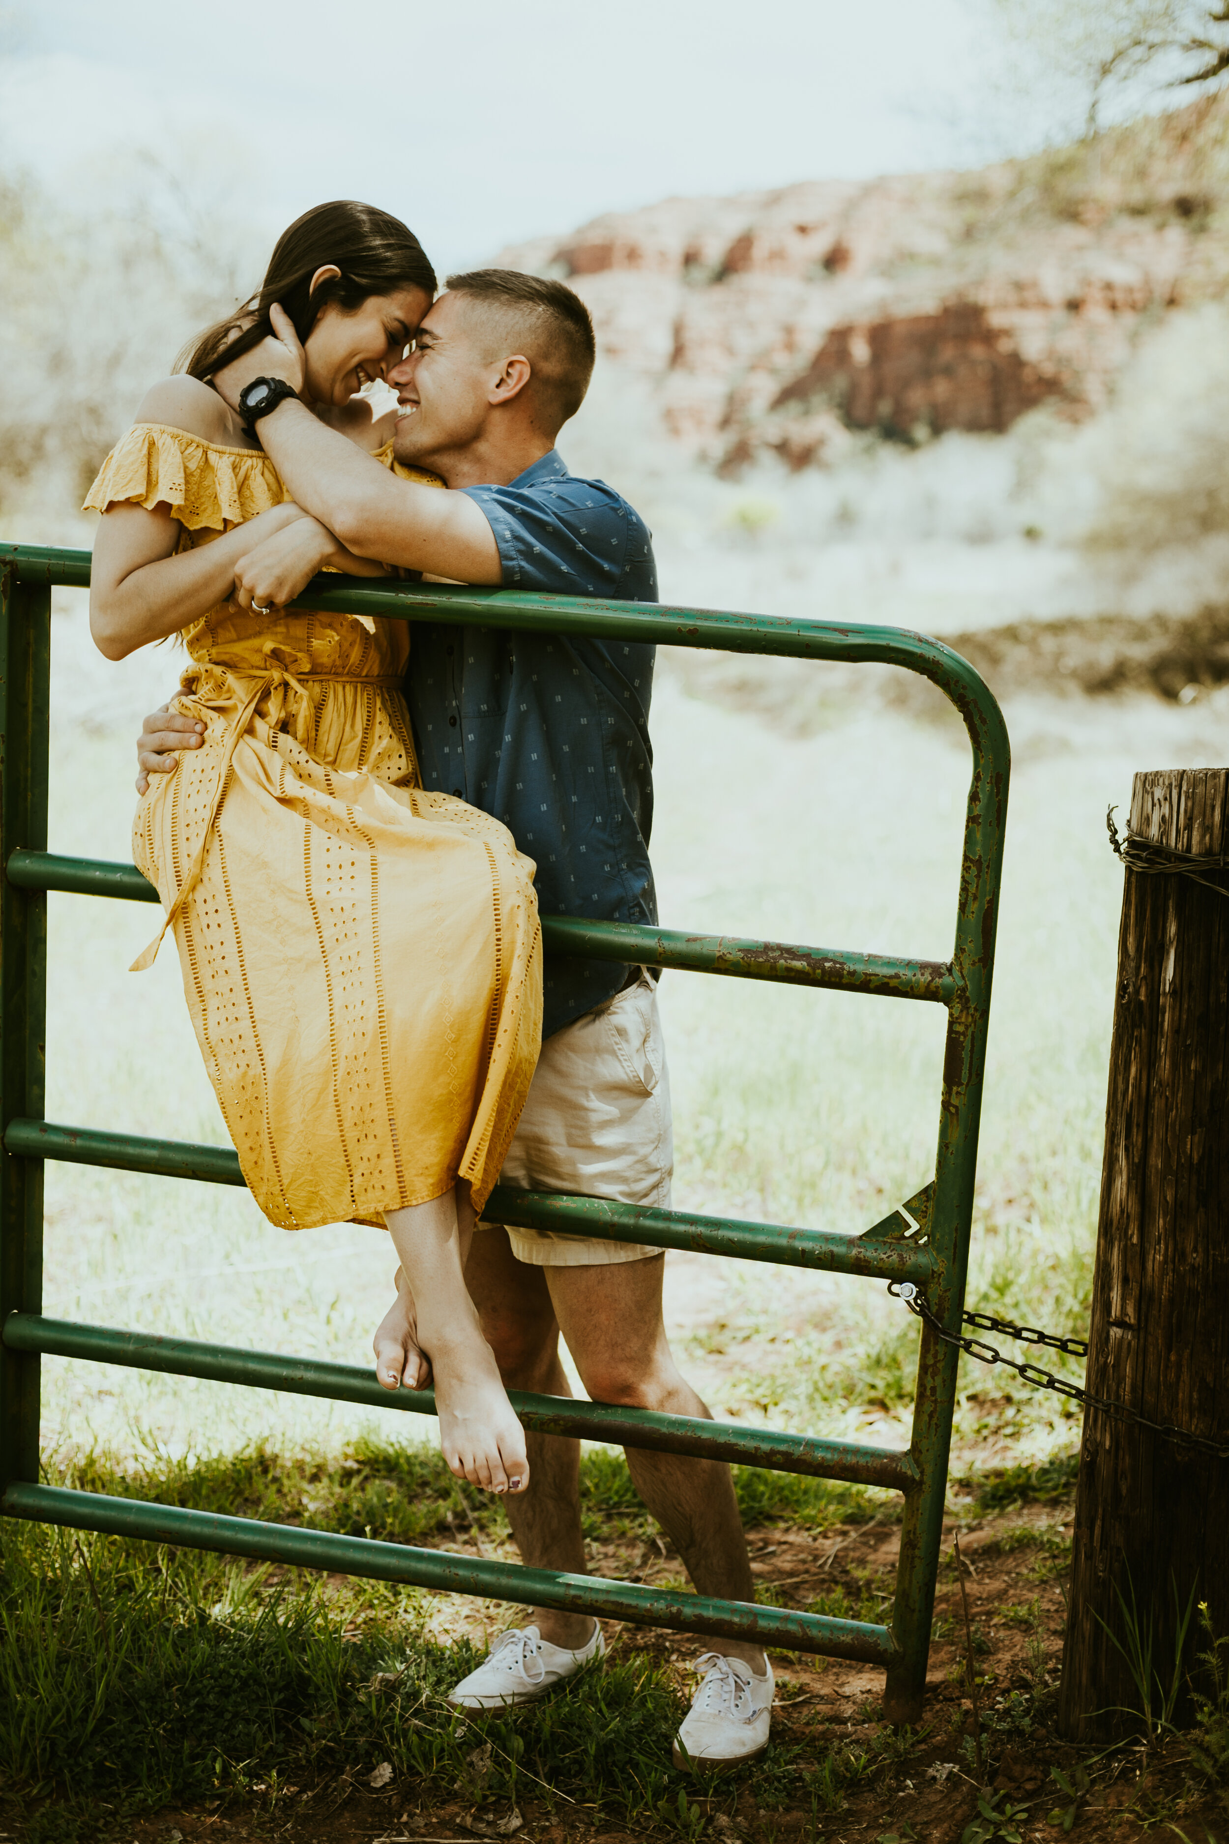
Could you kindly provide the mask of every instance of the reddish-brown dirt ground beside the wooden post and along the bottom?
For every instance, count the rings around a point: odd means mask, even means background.
[[[1218,1796],[1190,1791],[1190,1768],[1181,1744],[1170,1744],[1144,1763],[1137,1743],[1094,1759],[1100,1750],[1058,1739],[1054,1704],[1061,1667],[1063,1588],[1071,1503],[1028,1505],[984,1521],[951,1519],[945,1556],[958,1534],[967,1558],[966,1591],[977,1658],[978,1696],[991,1728],[986,1735],[986,1785],[999,1824],[988,1838],[1061,1838],[1067,1829],[1083,1844],[1135,1844],[1146,1833],[1216,1844],[1225,1835]],[[761,1599],[802,1606],[844,1588],[851,1608],[892,1590],[899,1529],[846,1525],[822,1534],[794,1527],[752,1532],[752,1556]],[[450,1545],[451,1547],[451,1545]],[[461,1545],[457,1545],[461,1547]],[[658,1545],[660,1549],[660,1545]],[[678,1571],[658,1554],[641,1578]],[[636,1558],[617,1545],[597,1545],[591,1566],[628,1573]],[[776,1591],[774,1591],[776,1590]],[[608,1623],[612,1652],[649,1650],[689,1682],[687,1660],[698,1649],[678,1636]],[[685,1647],[685,1649],[684,1649]],[[772,1774],[752,1768],[733,1779],[684,1779],[691,1814],[671,1827],[612,1822],[582,1803],[521,1798],[520,1809],[472,1798],[424,1796],[413,1783],[372,1789],[367,1779],[343,1776],[319,1785],[286,1787],[275,1800],[210,1803],[195,1811],[164,1811],[123,1827],[116,1837],[140,1844],[221,1844],[221,1840],[280,1838],[286,1844],[431,1844],[516,1837],[520,1844],[601,1844],[614,1838],[704,1837],[746,1844],[956,1844],[978,1816],[978,1778],[971,1744],[971,1706],[962,1669],[964,1615],[951,1560],[940,1573],[934,1643],[927,1673],[923,1720],[914,1732],[892,1732],[881,1720],[883,1674],[835,1660],[776,1654],[778,1678],[774,1743],[798,1750],[796,1765],[818,1767],[833,1748],[864,1757],[864,1767],[842,1789],[805,1803],[778,1803]],[[566,1691],[556,1693],[566,1695]],[[1087,1791],[1072,1802],[1054,1774]],[[1087,1776],[1087,1779],[1083,1778]],[[779,1781],[778,1781],[779,1783]],[[1071,1813],[1069,1824],[1063,1818]],[[0,1824],[4,1820],[0,1818]],[[0,1833],[2,1835],[2,1833]]]

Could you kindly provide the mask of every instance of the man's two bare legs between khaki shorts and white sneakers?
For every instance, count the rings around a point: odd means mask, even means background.
[[[466,1280],[509,1389],[571,1394],[558,1361],[562,1328],[595,1401],[708,1418],[708,1407],[678,1374],[665,1337],[663,1269],[663,1256],[599,1267],[531,1267],[512,1256],[503,1230],[481,1230],[474,1237]],[[588,1573],[577,1484],[579,1442],[531,1435],[529,1444],[533,1492],[507,1501],[521,1556],[531,1567]],[[720,1460],[632,1448],[626,1449],[626,1462],[636,1490],[678,1549],[696,1590],[728,1601],[754,1601],[730,1468]],[[538,1497],[542,1484],[545,1490]],[[591,1630],[582,1615],[544,1608],[534,1610],[534,1617],[542,1637],[555,1645],[584,1645]],[[763,1674],[765,1654],[759,1647],[739,1639],[722,1639],[719,1647]]]

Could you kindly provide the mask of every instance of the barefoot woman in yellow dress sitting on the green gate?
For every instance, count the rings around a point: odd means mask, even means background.
[[[398,219],[341,201],[293,223],[260,295],[147,393],[90,489],[90,631],[109,658],[177,632],[192,656],[175,708],[199,747],[142,797],[133,856],[175,929],[243,1176],[284,1228],[387,1224],[402,1261],[389,1318],[411,1293],[448,1464],[516,1492],[525,1438],[462,1269],[540,1047],[534,867],[494,819],[418,786],[404,621],[230,599],[256,544],[306,514],[208,382],[280,302],[306,349],[304,400],[392,465],[396,413],[359,393],[433,295]],[[385,573],[341,546],[330,566]],[[422,1353],[407,1352],[411,1387]]]

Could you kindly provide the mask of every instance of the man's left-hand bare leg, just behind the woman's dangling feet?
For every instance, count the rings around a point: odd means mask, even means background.
[[[464,1278],[507,1387],[571,1396],[545,1271],[516,1259],[507,1230],[479,1230]],[[529,1567],[586,1575],[580,1442],[568,1435],[529,1433],[525,1444],[533,1488],[503,1503],[520,1553]],[[551,1645],[568,1650],[579,1650],[593,1636],[588,1614],[529,1608],[525,1619]]]

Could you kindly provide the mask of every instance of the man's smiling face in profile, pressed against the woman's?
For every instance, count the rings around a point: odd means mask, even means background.
[[[481,435],[499,360],[475,337],[477,319],[464,295],[440,295],[420,323],[413,350],[389,371],[402,406],[392,439],[398,461],[431,467]]]

